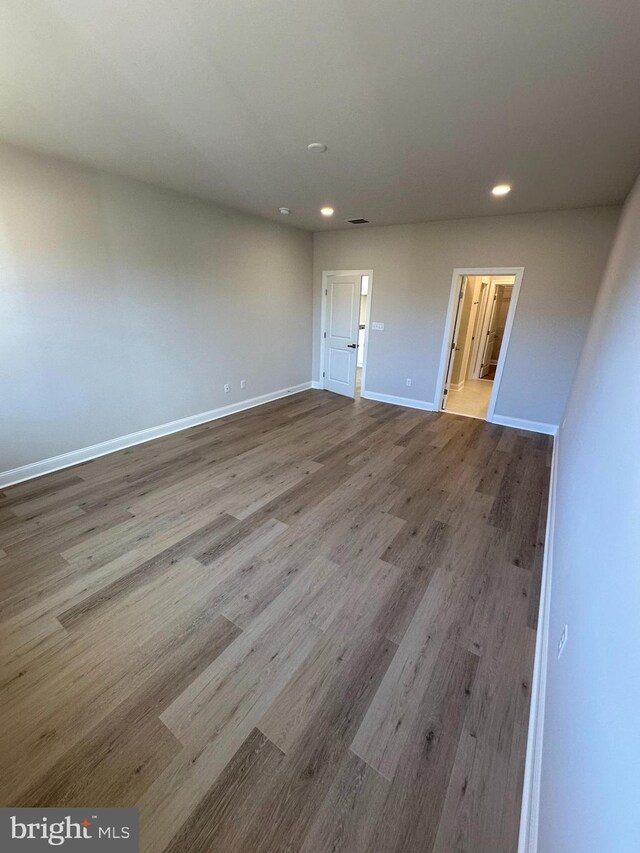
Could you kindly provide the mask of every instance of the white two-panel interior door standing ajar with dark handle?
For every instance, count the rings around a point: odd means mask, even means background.
[[[356,395],[360,279],[359,275],[331,275],[327,279],[324,387],[345,397]]]

